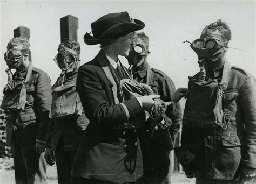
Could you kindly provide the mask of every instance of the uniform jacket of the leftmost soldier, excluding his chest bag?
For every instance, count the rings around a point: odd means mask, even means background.
[[[32,64],[30,64],[32,65]],[[10,111],[6,122],[8,144],[14,138],[17,144],[45,142],[51,108],[51,81],[43,70],[33,67],[26,84],[25,109],[19,114]]]

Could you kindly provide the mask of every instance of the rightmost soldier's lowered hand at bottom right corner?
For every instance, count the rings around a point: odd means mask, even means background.
[[[235,181],[252,181],[255,178],[255,172],[255,168],[242,166]]]

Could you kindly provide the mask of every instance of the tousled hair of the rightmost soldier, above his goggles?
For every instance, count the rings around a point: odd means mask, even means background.
[[[232,38],[232,34],[231,34],[231,30],[230,30],[230,26],[228,26],[228,24],[224,21],[224,20],[217,20],[214,23],[211,23],[210,25],[207,25],[201,34],[205,34],[207,33],[208,29],[217,29],[219,30],[219,32],[221,33],[221,38],[225,39],[227,41],[231,40]]]

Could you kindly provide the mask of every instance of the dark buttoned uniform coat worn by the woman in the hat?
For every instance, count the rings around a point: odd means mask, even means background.
[[[117,130],[128,109],[130,117],[143,113],[136,98],[113,104],[111,84],[102,66],[103,51],[78,70],[77,91],[90,123],[83,135],[71,175],[116,183],[134,182],[143,175],[137,130]]]

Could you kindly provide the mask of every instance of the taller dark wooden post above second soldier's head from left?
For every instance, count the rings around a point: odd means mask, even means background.
[[[63,43],[66,40],[77,41],[78,18],[67,15],[60,18],[60,41]]]

